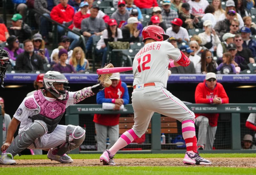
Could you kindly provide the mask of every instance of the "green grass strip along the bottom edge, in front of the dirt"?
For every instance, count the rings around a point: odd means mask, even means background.
[[[117,174],[117,175],[159,175],[159,174],[189,174],[189,175],[219,175],[219,174],[255,174],[255,168],[231,168],[231,167],[170,167],[170,166],[144,166],[144,167],[13,167],[0,168],[0,173],[8,175],[80,175],[80,174]]]

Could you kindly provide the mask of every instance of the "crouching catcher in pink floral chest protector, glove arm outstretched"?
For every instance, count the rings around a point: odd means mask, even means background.
[[[111,67],[114,66],[108,64],[105,68]],[[3,153],[0,163],[15,164],[13,157],[26,148],[49,150],[49,159],[60,163],[72,163],[73,159],[67,154],[83,143],[85,130],[80,126],[65,126],[58,123],[69,105],[74,105],[110,86],[111,75],[101,75],[98,83],[92,87],[69,92],[68,80],[63,74],[56,71],[46,72],[43,78],[44,89],[26,97],[14,114],[7,131],[6,142],[1,147]],[[12,141],[19,124],[19,134]]]

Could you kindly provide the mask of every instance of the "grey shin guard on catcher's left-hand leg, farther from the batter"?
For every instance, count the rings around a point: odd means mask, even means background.
[[[37,138],[47,133],[47,125],[42,120],[35,120],[28,129],[17,135],[7,148],[6,152],[12,156],[19,154],[22,150],[28,148]]]

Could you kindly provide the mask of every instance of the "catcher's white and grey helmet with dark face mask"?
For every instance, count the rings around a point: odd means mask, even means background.
[[[52,95],[60,100],[65,100],[68,96],[68,87],[67,78],[56,71],[48,71],[44,75],[44,89],[49,91]]]

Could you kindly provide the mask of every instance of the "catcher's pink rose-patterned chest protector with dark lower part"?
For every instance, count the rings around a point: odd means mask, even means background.
[[[50,134],[57,127],[65,113],[68,97],[65,100],[51,98],[54,101],[49,101],[44,97],[41,90],[34,92],[33,96],[34,98],[28,98],[25,101],[26,108],[34,110],[35,113],[35,115],[28,116],[28,118],[32,119],[33,122],[34,120],[44,121],[48,128],[47,134]]]

